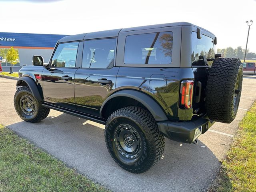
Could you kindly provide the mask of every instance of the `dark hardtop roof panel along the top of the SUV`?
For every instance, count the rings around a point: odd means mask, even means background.
[[[80,41],[80,40],[88,40],[88,39],[96,39],[96,38],[117,37],[120,32],[137,31],[137,30],[154,29],[154,28],[171,27],[171,26],[194,26],[196,28],[205,30],[204,28],[201,28],[199,26],[196,26],[196,25],[188,23],[188,22],[174,22],[174,23],[147,25],[147,26],[139,26],[139,27],[131,27],[131,28],[114,29],[114,30],[106,30],[106,31],[98,31],[98,32],[70,35],[70,36],[66,36],[66,37],[60,39],[58,42],[62,43],[62,42]],[[205,30],[205,31],[209,32],[208,30]],[[211,32],[209,32],[209,33],[211,33]],[[212,35],[214,35],[214,34],[212,34]]]

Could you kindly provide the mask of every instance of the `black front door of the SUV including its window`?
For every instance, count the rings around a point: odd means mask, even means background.
[[[74,76],[79,42],[58,44],[50,64],[42,72],[44,100],[50,104],[76,110]]]

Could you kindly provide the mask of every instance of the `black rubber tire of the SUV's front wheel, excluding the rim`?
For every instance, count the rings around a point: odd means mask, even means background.
[[[22,96],[29,96],[30,98],[32,98],[34,106],[35,106],[35,112],[32,115],[27,115],[25,114],[20,106],[20,99],[22,98]],[[22,120],[26,121],[26,122],[31,122],[31,123],[35,123],[35,122],[39,122],[43,119],[45,119],[48,114],[50,113],[50,108],[45,108],[44,106],[42,106],[42,102],[38,101],[32,94],[30,88],[28,86],[23,86],[18,88],[18,90],[16,91],[15,95],[14,95],[14,108],[17,112],[17,114],[20,116],[20,118],[22,118]]]

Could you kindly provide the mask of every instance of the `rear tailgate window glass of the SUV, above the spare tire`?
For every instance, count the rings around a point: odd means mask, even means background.
[[[196,32],[191,34],[191,60],[192,66],[204,65],[204,58],[214,59],[214,44],[213,39],[202,35],[201,39],[198,39]],[[207,61],[208,65],[212,65],[212,61]]]

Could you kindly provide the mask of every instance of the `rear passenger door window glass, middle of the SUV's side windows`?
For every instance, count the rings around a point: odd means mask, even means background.
[[[116,39],[88,40],[84,42],[84,68],[110,68],[114,66]]]

